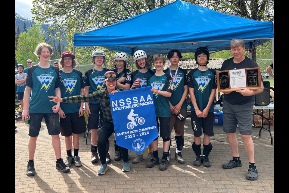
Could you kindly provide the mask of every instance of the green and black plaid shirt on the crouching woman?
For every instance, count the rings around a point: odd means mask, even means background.
[[[122,91],[124,89],[120,87],[116,87],[116,90]],[[62,98],[62,100],[63,100],[62,101],[63,103],[82,103],[82,102],[88,102],[91,100],[99,100],[104,119],[108,120],[109,122],[113,122],[111,109],[110,109],[110,97],[109,97],[109,93],[107,92],[107,88],[103,90],[95,91],[88,95],[64,97]]]

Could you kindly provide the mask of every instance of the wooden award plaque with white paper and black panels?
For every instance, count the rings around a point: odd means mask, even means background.
[[[231,92],[246,87],[249,90],[261,88],[260,68],[241,68],[217,71],[218,92]]]

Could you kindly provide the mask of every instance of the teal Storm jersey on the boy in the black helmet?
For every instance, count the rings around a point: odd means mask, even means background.
[[[200,111],[203,111],[208,105],[212,89],[217,88],[216,71],[210,68],[206,71],[200,71],[198,68],[195,68],[190,71],[189,77],[188,87],[194,88],[198,108]],[[191,105],[191,111],[195,111],[193,105]],[[209,112],[214,112],[213,103],[210,106]]]

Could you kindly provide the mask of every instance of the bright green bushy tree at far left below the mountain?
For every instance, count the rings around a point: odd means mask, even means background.
[[[34,51],[39,43],[45,42],[43,37],[41,26],[38,25],[32,25],[27,33],[20,34],[17,50],[15,50],[16,61],[24,66],[26,66],[27,59],[31,59],[32,62],[38,61]]]

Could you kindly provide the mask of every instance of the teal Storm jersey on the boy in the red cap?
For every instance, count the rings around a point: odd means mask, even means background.
[[[80,89],[84,89],[85,80],[82,72],[72,69],[70,73],[60,70],[63,85],[60,87],[61,98],[80,95]],[[78,112],[80,103],[60,103],[64,113]],[[82,107],[83,108],[83,107]]]

